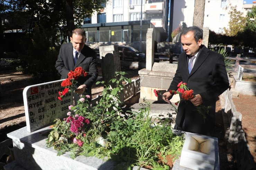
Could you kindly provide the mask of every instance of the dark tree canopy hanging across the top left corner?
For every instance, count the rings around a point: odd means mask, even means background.
[[[100,13],[107,2],[108,0],[1,0],[1,4],[8,4],[7,11],[26,11],[30,14],[31,23],[40,25],[45,30],[55,30],[62,37],[70,37],[72,30],[80,27],[85,17],[90,17],[94,11]],[[31,31],[33,26],[31,24],[31,28],[25,31]],[[62,43],[64,41],[62,39]]]

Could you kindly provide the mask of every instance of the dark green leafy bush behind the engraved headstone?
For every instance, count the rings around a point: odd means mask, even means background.
[[[33,34],[28,34],[21,42],[25,54],[18,54],[17,70],[31,74],[38,82],[53,81],[60,77],[54,67],[58,56],[56,39],[54,31],[35,27]]]

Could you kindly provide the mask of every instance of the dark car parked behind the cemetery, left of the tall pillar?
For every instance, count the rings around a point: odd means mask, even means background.
[[[143,62],[146,61],[145,53],[142,53],[136,50],[135,48],[129,47],[129,46],[118,46],[120,60],[122,60],[122,57],[123,57],[123,49],[124,49],[125,60],[143,61]]]

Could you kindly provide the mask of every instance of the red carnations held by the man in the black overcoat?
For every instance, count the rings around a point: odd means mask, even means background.
[[[181,97],[182,99],[181,100],[191,100],[193,98],[195,98],[195,94],[194,94],[194,91],[189,89],[187,86],[186,86],[187,83],[183,83],[182,81],[178,84],[178,89],[177,91],[175,90],[170,90],[169,92],[171,94],[180,94],[181,93]],[[157,95],[161,95],[163,96],[161,93],[159,93],[159,91],[157,90],[154,90],[154,93],[155,93],[155,96]],[[163,96],[165,98],[165,96]],[[181,101],[180,100],[180,101]],[[175,103],[175,105],[178,105],[178,103],[180,101],[177,101]],[[171,105],[173,106],[172,102],[171,102]],[[211,109],[211,106],[203,106],[203,105],[200,105],[200,106],[195,106],[196,107],[196,110],[198,111],[199,114],[201,114],[204,118],[204,120],[206,119],[206,114],[209,113],[209,110]],[[173,106],[173,108],[175,108]],[[177,109],[175,108],[175,111],[177,111]]]

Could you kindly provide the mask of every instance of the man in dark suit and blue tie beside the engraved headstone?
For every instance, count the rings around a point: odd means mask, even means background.
[[[72,31],[70,40],[71,43],[62,44],[55,67],[61,74],[61,79],[66,79],[67,74],[76,67],[82,67],[88,72],[88,76],[78,79],[80,86],[74,93],[74,99],[77,102],[80,99],[77,94],[91,96],[91,86],[98,77],[97,53],[85,45],[85,31],[81,28]]]

